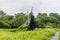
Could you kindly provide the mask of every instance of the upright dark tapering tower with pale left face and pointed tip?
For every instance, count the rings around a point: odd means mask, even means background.
[[[34,16],[33,16],[33,8],[28,17],[28,30],[33,30],[35,28]]]

